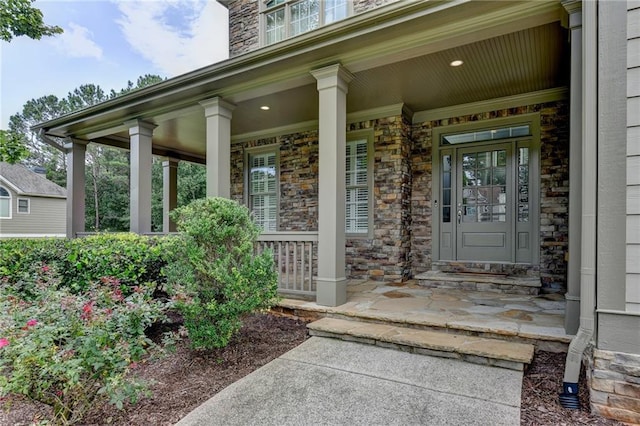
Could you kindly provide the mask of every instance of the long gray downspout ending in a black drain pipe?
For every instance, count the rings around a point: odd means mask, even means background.
[[[597,79],[598,32],[597,2],[582,4],[582,247],[580,254],[580,327],[569,345],[565,363],[563,393],[560,404],[578,409],[578,380],[582,355],[595,331],[596,308],[596,225],[598,194],[597,160]]]

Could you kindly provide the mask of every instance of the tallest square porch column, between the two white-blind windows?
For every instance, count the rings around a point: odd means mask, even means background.
[[[353,76],[340,64],[311,74],[319,92],[318,278],[316,302],[347,301],[345,273],[345,160],[347,92]]]

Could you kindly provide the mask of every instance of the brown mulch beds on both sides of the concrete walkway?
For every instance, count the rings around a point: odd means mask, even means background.
[[[179,319],[174,318],[176,325]],[[155,330],[158,334],[162,330]],[[112,406],[93,409],[87,425],[172,425],[214,394],[293,349],[307,338],[303,321],[256,314],[226,348],[197,352],[187,342],[167,357],[141,363],[137,373],[155,381],[153,396],[118,411]],[[618,425],[589,413],[584,375],[580,384],[580,410],[558,403],[565,354],[539,352],[522,383],[521,425]],[[2,425],[30,425],[47,418],[47,407],[18,397],[5,398],[8,411],[0,411]]]

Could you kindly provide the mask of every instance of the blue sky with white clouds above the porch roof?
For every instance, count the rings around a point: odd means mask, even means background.
[[[228,57],[228,14],[215,0],[37,0],[64,33],[0,41],[0,129],[30,99],[82,84],[119,91],[144,74],[175,77]]]

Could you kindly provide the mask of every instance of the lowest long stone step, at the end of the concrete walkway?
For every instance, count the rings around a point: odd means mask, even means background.
[[[530,344],[389,324],[322,318],[307,327],[312,336],[333,337],[517,371],[523,371],[534,354],[534,346]]]

